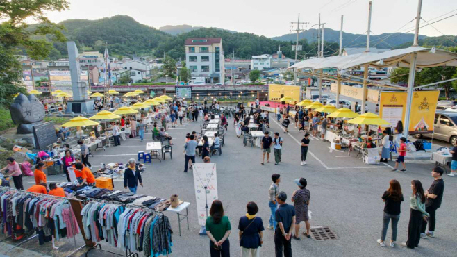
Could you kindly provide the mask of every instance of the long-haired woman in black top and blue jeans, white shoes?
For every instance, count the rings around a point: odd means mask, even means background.
[[[400,183],[396,179],[392,179],[389,184],[389,189],[385,191],[381,197],[385,203],[383,230],[381,231],[381,238],[378,239],[378,244],[381,245],[381,247],[385,247],[385,235],[387,234],[390,219],[392,219],[392,236],[390,236],[389,245],[390,247],[395,246],[395,241],[397,241],[397,224],[401,212],[401,202],[404,201]]]

